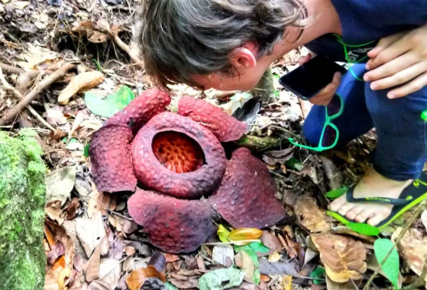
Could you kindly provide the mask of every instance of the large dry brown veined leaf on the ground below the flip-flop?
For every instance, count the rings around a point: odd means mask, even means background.
[[[311,240],[319,250],[321,261],[331,280],[344,283],[363,277],[367,265],[361,241],[330,233],[312,234]]]

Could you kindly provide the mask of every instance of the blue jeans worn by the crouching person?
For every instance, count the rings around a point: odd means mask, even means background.
[[[355,64],[352,69],[360,78],[366,72],[364,64]],[[337,146],[375,127],[378,137],[373,159],[375,170],[394,180],[418,178],[427,161],[427,122],[420,118],[427,109],[427,86],[390,100],[386,95],[388,89],[373,91],[369,84],[357,80],[350,72],[342,76],[337,93],[343,98],[344,112],[333,120],[340,131]],[[311,146],[318,144],[324,123],[325,107],[313,106],[303,125],[304,136]]]

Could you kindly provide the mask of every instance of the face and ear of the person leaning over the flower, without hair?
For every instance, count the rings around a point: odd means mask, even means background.
[[[267,56],[263,56],[257,61],[256,49],[250,44],[236,49],[230,57],[230,61],[235,68],[233,75],[217,72],[208,75],[193,75],[192,79],[204,89],[247,91],[255,87],[271,63],[270,57]]]

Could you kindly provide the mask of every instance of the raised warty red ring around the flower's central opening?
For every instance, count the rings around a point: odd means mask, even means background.
[[[205,164],[195,171],[177,173],[163,166],[154,155],[154,137],[161,132],[183,133],[203,150]],[[132,141],[135,175],[146,187],[180,198],[196,199],[210,195],[226,170],[226,154],[221,142],[208,129],[175,113],[153,117]]]

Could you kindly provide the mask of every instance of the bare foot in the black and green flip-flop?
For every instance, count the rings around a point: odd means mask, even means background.
[[[388,179],[374,169],[371,169],[353,191],[355,198],[384,197],[397,199],[403,188],[409,185],[412,179],[407,181],[396,181]],[[391,213],[392,205],[371,203],[348,203],[346,195],[331,203],[330,210],[346,216],[350,220],[363,223],[366,220],[371,226],[378,225]]]

